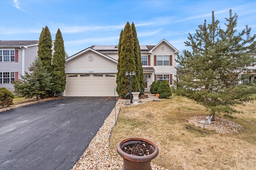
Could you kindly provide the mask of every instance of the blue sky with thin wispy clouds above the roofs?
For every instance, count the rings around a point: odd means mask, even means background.
[[[140,45],[166,39],[188,49],[188,33],[215,19],[224,27],[229,10],[238,14],[236,29],[256,33],[256,0],[0,0],[0,40],[39,40],[46,25],[55,39],[58,28],[72,56],[91,45],[118,45],[126,22],[134,22]]]

